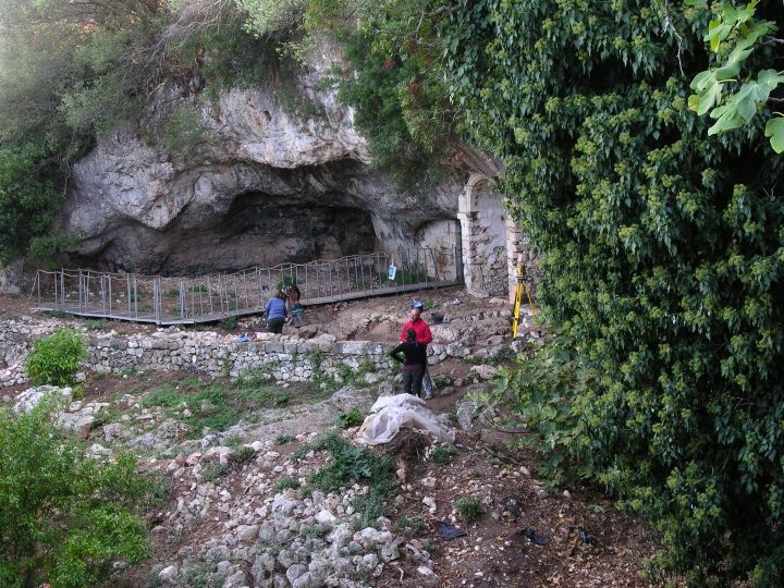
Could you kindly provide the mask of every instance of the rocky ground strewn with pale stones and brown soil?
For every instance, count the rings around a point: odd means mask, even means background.
[[[176,372],[87,375],[84,395],[71,413],[99,416],[88,430],[77,431],[90,451],[111,458],[133,450],[143,469],[169,488],[164,505],[148,513],[154,556],[121,566],[114,584],[646,585],[640,571],[656,546],[637,522],[621,516],[595,490],[549,489],[538,479],[531,454],[507,449],[506,442],[517,439],[514,433],[473,418],[476,406],[466,394],[488,390],[498,363],[507,356],[499,351],[510,347],[509,306],[471,299],[456,289],[419,296],[432,301],[432,311],[444,315],[445,326],[460,328],[471,355],[431,368],[440,387],[427,407],[456,430],[454,444],[404,430],[362,457],[394,464],[396,489],[383,513],[367,507],[379,480],[360,479],[338,491],[319,489],[315,480],[338,461],[319,441],[323,431],[332,428],[340,439],[353,441],[354,417],[362,420],[380,394],[397,391],[392,371],[357,373],[327,389],[289,382],[243,388]],[[392,296],[311,308],[308,329],[391,345],[409,304],[409,296]],[[400,322],[366,320],[371,315],[399,316]],[[44,320],[23,297],[0,298],[3,318]],[[258,319],[249,318],[231,332],[240,336],[260,328]],[[111,323],[111,329],[155,328]],[[530,323],[525,330],[539,335]],[[16,402],[25,390],[11,387],[0,395]],[[206,390],[223,391],[226,406],[238,411],[236,421],[222,431],[199,428],[200,418],[228,409],[217,396],[205,396]],[[446,538],[449,532],[457,536]]]

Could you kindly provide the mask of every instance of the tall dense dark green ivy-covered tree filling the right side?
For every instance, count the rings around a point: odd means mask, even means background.
[[[501,394],[562,476],[601,482],[659,532],[651,573],[781,584],[782,161],[754,121],[708,137],[689,110],[706,11],[460,5],[443,29],[453,99],[504,158],[559,341]]]

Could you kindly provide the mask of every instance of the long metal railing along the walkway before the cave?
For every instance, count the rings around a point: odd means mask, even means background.
[[[208,322],[261,313],[279,287],[292,283],[305,305],[455,285],[463,279],[458,256],[449,247],[401,249],[195,278],[39,270],[32,296],[38,297],[41,310],[77,316],[158,324]]]

